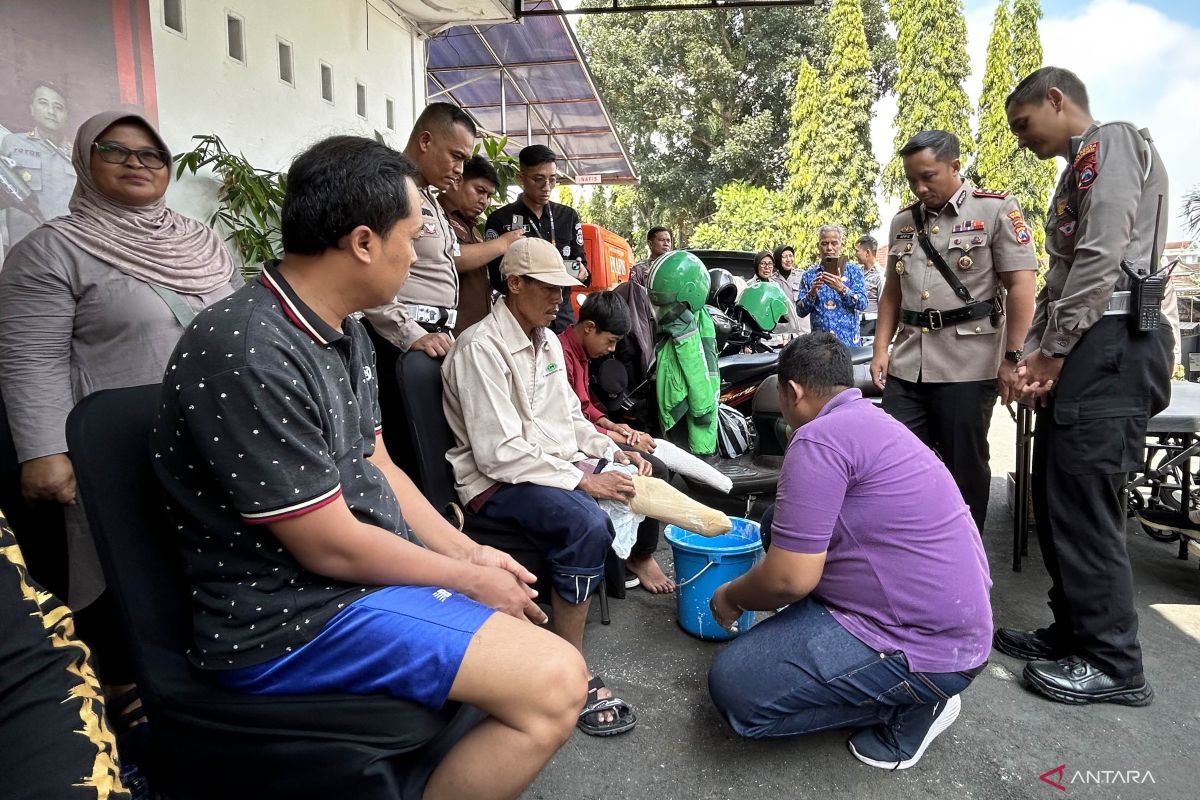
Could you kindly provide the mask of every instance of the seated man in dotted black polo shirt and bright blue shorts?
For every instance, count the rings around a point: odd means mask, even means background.
[[[574,729],[587,668],[529,624],[545,621],[534,576],[450,527],[378,435],[374,354],[349,314],[408,275],[415,175],[359,137],[296,158],[283,260],[198,315],[172,356],[155,469],[182,536],[198,667],[248,693],[476,705],[491,718],[424,796],[511,798]]]

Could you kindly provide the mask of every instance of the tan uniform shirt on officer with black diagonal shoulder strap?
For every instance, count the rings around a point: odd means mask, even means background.
[[[888,234],[888,281],[900,281],[900,307],[917,312],[961,308],[965,303],[920,247],[914,207],[901,209]],[[964,181],[941,211],[923,211],[929,241],[978,301],[1000,295],[1001,272],[1038,266],[1021,209],[1004,192],[977,190]],[[932,384],[990,380],[1003,355],[1003,319],[998,326],[985,317],[937,331],[901,321],[888,374]]]

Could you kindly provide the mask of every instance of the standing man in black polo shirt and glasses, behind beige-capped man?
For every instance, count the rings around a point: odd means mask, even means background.
[[[580,215],[569,205],[551,203],[550,193],[558,184],[558,156],[544,144],[532,144],[517,154],[521,169],[517,181],[521,194],[508,205],[492,211],[484,225],[484,237],[488,241],[498,239],[510,230],[524,228],[526,236],[538,236],[551,242],[564,261],[578,264],[577,271],[568,270],[583,285],[588,284],[587,259],[583,257],[583,225]],[[492,288],[502,290],[500,259],[487,265],[492,278]],[[575,323],[575,308],[571,306],[571,293],[563,293],[563,302],[558,306],[558,317],[550,324],[550,330],[562,333]]]

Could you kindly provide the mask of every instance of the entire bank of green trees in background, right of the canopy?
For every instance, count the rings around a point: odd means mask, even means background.
[[[584,17],[581,46],[642,182],[592,191],[581,213],[635,248],[655,224],[680,246],[809,252],[828,222],[852,240],[881,222],[877,186],[907,196],[901,161],[881,174],[870,142],[894,92],[893,152],[918,131],[956,134],[968,175],[1016,197],[1040,254],[1055,163],[1019,151],[1003,106],[1042,66],[1040,18],[1040,0],[1000,0],[976,139],[964,0]]]

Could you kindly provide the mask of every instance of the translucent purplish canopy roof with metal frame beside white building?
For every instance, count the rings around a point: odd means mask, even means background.
[[[559,168],[578,184],[636,184],[637,174],[600,97],[578,42],[557,0],[534,0],[553,13],[505,25],[461,25],[426,46],[426,98],[449,100],[492,134],[510,139],[515,155],[544,143]],[[514,130],[510,112],[524,108]],[[523,130],[522,130],[523,128]],[[512,139],[520,139],[514,142]]]

